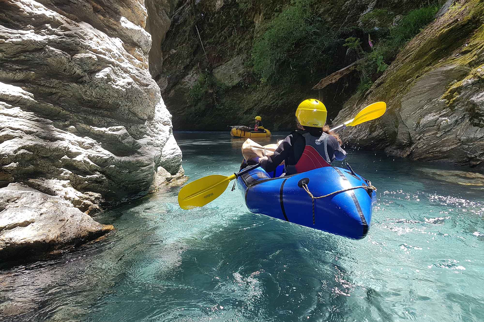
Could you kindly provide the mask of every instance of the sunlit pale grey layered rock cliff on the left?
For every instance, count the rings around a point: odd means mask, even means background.
[[[171,115],[148,71],[146,17],[139,0],[0,3],[0,188],[9,202],[29,188],[69,201],[77,209],[65,211],[81,218],[182,174]],[[52,200],[20,212],[3,200],[0,250],[12,229],[32,233]],[[60,235],[46,242],[65,242]]]

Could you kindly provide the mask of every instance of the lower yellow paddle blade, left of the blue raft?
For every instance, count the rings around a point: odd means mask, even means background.
[[[178,193],[178,204],[182,209],[207,205],[217,199],[227,189],[230,180],[235,178],[235,175],[212,175],[190,182]]]

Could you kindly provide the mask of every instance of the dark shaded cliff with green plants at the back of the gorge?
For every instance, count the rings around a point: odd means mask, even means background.
[[[227,130],[227,125],[250,125],[260,115],[268,129],[287,130],[295,125],[294,110],[302,100],[321,99],[333,118],[356,90],[355,73],[311,90],[359,58],[345,39],[378,37],[420,5],[412,0],[171,2],[170,29],[160,45],[163,66],[159,70],[160,59],[150,59],[150,68],[176,129]],[[264,37],[269,41],[261,41]],[[367,41],[361,46],[370,50]],[[277,71],[271,77],[263,71],[264,56],[274,58],[268,60]]]

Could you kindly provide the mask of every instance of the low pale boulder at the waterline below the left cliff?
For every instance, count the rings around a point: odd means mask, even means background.
[[[0,189],[0,259],[48,251],[113,230],[58,196],[17,183]]]

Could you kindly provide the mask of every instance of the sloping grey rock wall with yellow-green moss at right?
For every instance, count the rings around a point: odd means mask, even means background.
[[[484,2],[452,3],[365,96],[348,100],[338,121],[370,102],[388,104],[380,119],[346,130],[350,144],[484,168]]]

